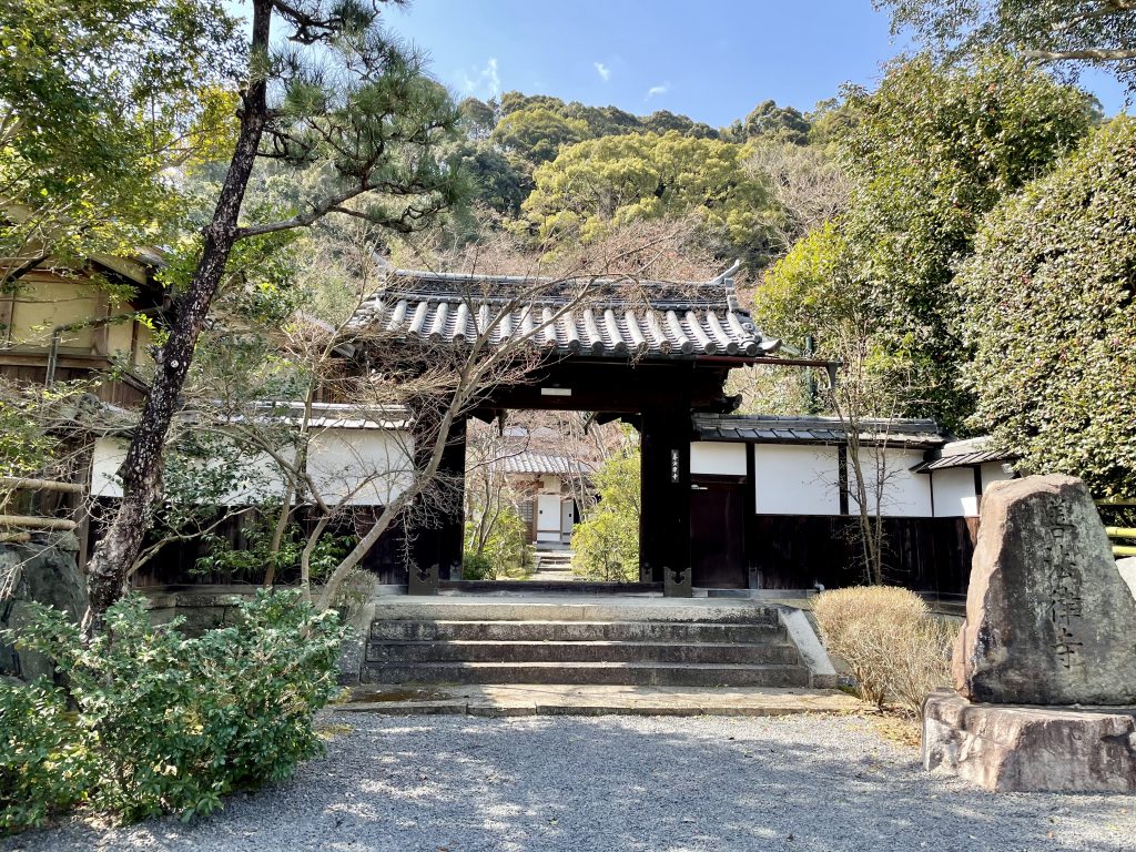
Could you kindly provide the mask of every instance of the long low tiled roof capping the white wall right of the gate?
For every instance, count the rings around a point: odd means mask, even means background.
[[[860,441],[868,444],[929,449],[946,436],[929,419],[891,418],[860,421]],[[744,441],[769,444],[842,444],[844,424],[835,417],[776,417],[772,415],[694,415],[701,441]]]

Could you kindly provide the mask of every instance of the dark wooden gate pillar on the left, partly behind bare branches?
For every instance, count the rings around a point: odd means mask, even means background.
[[[431,449],[421,443],[420,450]],[[442,450],[437,469],[438,499],[429,508],[429,517],[419,517],[414,531],[414,561],[421,570],[437,566],[442,579],[457,578],[461,571],[461,554],[466,526],[465,507],[466,421],[459,420],[450,429],[450,437]],[[420,510],[418,512],[421,513]]]

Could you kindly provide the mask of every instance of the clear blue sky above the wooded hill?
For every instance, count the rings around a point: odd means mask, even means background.
[[[908,47],[871,0],[412,0],[386,20],[459,98],[519,90],[713,126],[768,98],[808,110],[845,81],[874,87]],[[1122,107],[1108,75],[1081,84]]]

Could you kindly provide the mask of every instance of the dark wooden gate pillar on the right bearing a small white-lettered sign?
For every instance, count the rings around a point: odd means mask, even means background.
[[[677,404],[643,411],[640,577],[688,588],[691,571],[691,409]]]

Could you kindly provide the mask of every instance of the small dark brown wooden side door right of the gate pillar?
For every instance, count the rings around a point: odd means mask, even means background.
[[[694,585],[745,588],[745,485],[695,478],[691,488]]]

